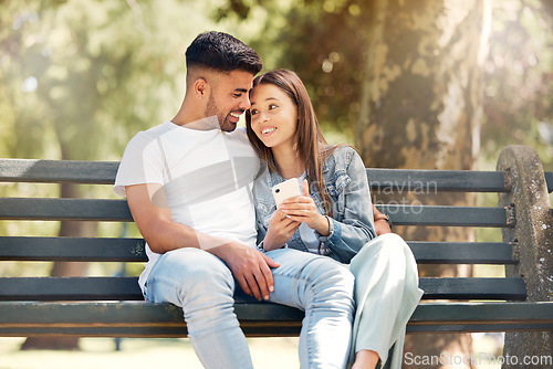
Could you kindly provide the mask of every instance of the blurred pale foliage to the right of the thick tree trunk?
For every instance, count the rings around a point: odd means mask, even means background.
[[[494,2],[482,148],[497,158],[505,145],[529,145],[553,170],[553,32],[545,3]]]

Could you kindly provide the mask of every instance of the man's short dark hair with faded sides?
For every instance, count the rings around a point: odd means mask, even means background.
[[[187,67],[208,67],[218,72],[240,70],[255,75],[263,66],[253,49],[228,33],[216,31],[198,34],[185,55]]]

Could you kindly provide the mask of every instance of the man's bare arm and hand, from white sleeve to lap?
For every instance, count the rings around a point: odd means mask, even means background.
[[[274,291],[270,268],[278,267],[278,263],[239,242],[212,238],[174,222],[161,184],[127,186],[125,191],[135,223],[153,252],[163,254],[181,247],[201,249],[227,263],[247,294],[267,299]]]

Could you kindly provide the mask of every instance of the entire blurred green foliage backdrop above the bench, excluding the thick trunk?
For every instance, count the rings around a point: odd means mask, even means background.
[[[493,2],[482,126],[488,157],[526,144],[553,162],[547,3]],[[364,0],[4,1],[0,155],[118,158],[134,133],[178,108],[181,53],[208,29],[251,44],[265,70],[296,71],[325,130],[352,138],[364,59],[372,57],[363,52],[372,7]]]

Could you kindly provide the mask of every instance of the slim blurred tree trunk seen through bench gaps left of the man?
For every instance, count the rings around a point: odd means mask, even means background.
[[[81,198],[79,184],[62,183],[62,198]],[[86,238],[96,235],[96,222],[62,221],[60,236]],[[55,262],[50,273],[51,276],[83,276],[87,263],[83,262]],[[22,350],[79,350],[79,337],[29,337],[21,346]]]

